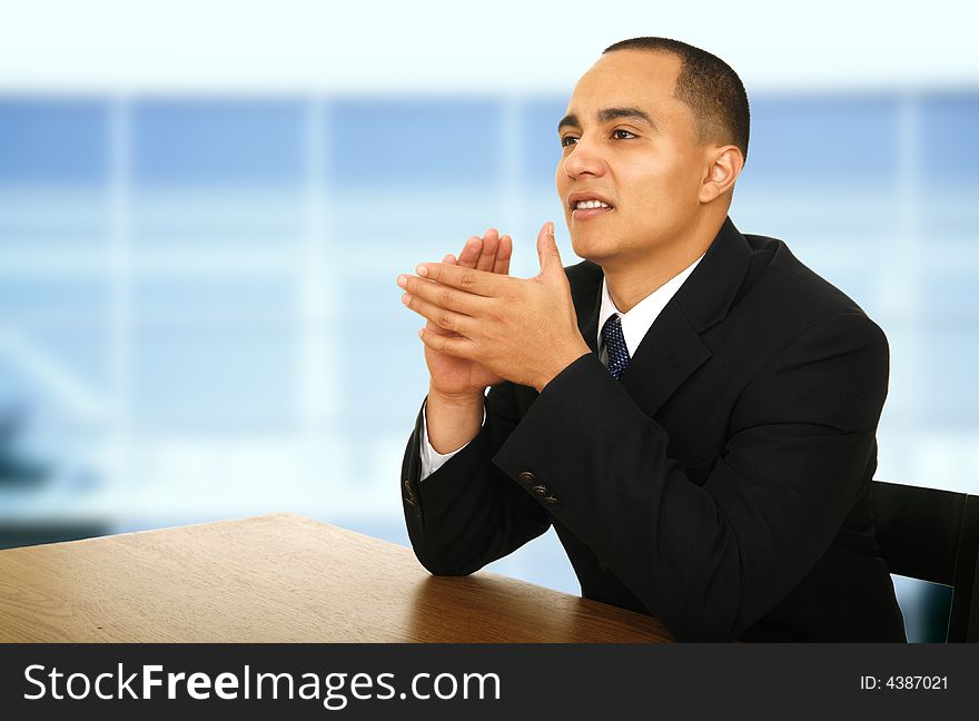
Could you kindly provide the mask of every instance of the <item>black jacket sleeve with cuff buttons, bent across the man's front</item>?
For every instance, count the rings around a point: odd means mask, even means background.
[[[590,354],[544,388],[494,461],[546,485],[554,517],[679,640],[735,639],[840,529],[872,462],[887,375],[887,340],[866,316],[811,326],[746,385],[701,486]]]

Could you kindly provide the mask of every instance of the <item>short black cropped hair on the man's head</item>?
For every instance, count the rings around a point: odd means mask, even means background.
[[[751,130],[748,93],[731,66],[706,50],[670,38],[622,40],[605,48],[602,55],[616,50],[655,50],[680,58],[682,66],[673,97],[693,110],[701,140],[718,139],[735,145],[748,159]]]

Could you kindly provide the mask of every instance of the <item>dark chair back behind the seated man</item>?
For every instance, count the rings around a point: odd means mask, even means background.
[[[883,481],[871,494],[891,573],[951,586],[947,640],[979,641],[979,496]]]

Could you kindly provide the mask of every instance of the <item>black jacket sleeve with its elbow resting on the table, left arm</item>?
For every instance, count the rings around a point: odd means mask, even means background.
[[[551,526],[546,512],[492,462],[520,419],[511,384],[491,388],[478,435],[419,482],[423,416],[402,464],[405,522],[422,565],[437,575],[473,573]]]

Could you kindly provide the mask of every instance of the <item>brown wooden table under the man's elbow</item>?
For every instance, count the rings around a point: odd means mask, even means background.
[[[653,618],[291,514],[0,551],[0,642],[661,642]]]

